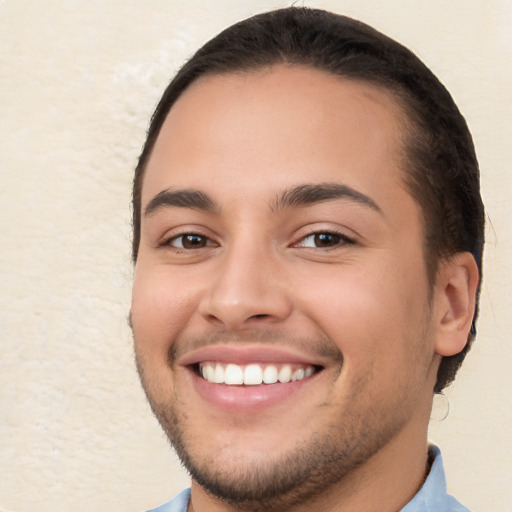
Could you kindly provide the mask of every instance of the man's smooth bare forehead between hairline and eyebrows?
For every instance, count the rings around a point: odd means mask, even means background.
[[[162,126],[142,204],[169,187],[233,180],[251,195],[333,179],[363,193],[403,188],[404,117],[386,90],[311,68],[205,76]]]

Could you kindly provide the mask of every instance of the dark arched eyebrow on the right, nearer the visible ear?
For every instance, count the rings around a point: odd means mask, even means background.
[[[382,210],[373,199],[341,183],[304,184],[289,188],[272,201],[271,209],[279,211],[299,208],[337,199],[348,199],[382,214]]]

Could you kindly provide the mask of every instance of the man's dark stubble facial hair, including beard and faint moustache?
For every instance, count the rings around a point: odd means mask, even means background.
[[[426,331],[422,330],[419,339],[423,339],[425,334]],[[222,337],[226,338],[226,335]],[[261,333],[261,337],[269,338],[265,333]],[[329,421],[321,425],[322,430],[308,432],[287,452],[279,455],[263,454],[264,457],[260,456],[258,460],[244,459],[242,445],[238,446],[236,460],[233,460],[235,457],[232,451],[227,455],[222,454],[222,450],[214,451],[212,448],[207,453],[201,453],[195,449],[197,444],[194,442],[194,432],[195,435],[202,433],[196,419],[189,416],[185,392],[180,393],[173,386],[169,396],[156,398],[164,395],[158,389],[159,383],[154,381],[151,372],[145,374],[144,357],[138,353],[135,336],[134,339],[142,387],[183,466],[209,495],[238,511],[285,512],[297,506],[302,509],[308,504],[313,505],[315,499],[328,494],[335,486],[338,499],[340,493],[343,499],[344,492],[353,491],[350,489],[352,476],[357,468],[377,454],[404,428],[415,407],[414,400],[411,401],[409,396],[410,386],[405,381],[388,390],[385,398],[382,395],[370,396],[374,392],[378,393],[371,383],[379,381],[377,370],[370,366],[365,374],[359,375],[351,383],[349,396],[341,399],[343,403],[321,404],[322,410],[331,408],[331,414],[326,415]],[[201,343],[214,340],[201,340]],[[307,343],[317,346],[320,352],[332,361],[337,361],[338,371],[333,378],[343,378],[343,356],[331,340],[316,340],[316,343],[307,340]],[[171,345],[169,350],[171,372],[176,358],[176,346],[180,344]],[[424,362],[421,351],[412,352],[410,358],[412,367]],[[410,377],[413,378],[412,375]],[[412,393],[415,394],[414,391]],[[322,411],[319,413],[323,414]],[[300,427],[297,425],[297,430]]]

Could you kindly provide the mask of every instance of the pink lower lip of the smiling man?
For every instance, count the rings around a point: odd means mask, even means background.
[[[228,386],[215,384],[190,371],[193,385],[199,396],[208,404],[230,413],[258,412],[277,405],[296,393],[304,386],[313,383],[318,373],[311,377],[285,384],[260,384],[259,386]]]

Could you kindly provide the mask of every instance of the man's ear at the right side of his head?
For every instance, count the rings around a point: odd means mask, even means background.
[[[436,353],[458,354],[468,341],[479,282],[475,258],[460,252],[441,261],[436,280]]]

